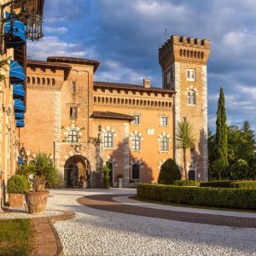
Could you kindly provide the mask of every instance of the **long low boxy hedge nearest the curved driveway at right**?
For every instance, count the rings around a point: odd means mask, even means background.
[[[220,189],[138,184],[137,196],[203,207],[256,209],[256,189]]]

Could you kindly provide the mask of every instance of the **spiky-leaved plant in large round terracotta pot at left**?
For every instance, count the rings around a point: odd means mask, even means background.
[[[38,153],[33,160],[24,166],[24,172],[32,182],[32,191],[25,192],[28,211],[32,214],[44,212],[49,191],[46,190],[55,186],[57,180],[57,169],[54,161],[47,153]]]

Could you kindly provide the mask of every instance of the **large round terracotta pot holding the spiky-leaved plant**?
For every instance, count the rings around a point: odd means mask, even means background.
[[[38,214],[45,211],[49,191],[27,191],[24,193],[29,213]]]

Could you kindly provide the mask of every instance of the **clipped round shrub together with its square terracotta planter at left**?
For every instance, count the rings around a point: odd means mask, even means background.
[[[25,176],[16,174],[15,176],[10,177],[7,183],[9,207],[23,207],[23,192],[29,189],[30,184]]]

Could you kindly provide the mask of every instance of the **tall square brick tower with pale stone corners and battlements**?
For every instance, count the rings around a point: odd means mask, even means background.
[[[172,35],[159,49],[163,88],[175,90],[174,125],[188,119],[196,136],[195,148],[188,150],[189,179],[207,180],[207,60],[210,41]],[[183,172],[183,152],[175,149],[174,159]],[[183,172],[184,177],[184,172]]]

